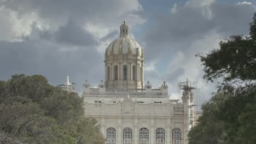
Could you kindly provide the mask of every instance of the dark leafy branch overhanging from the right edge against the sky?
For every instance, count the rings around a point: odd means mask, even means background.
[[[250,35],[231,35],[229,39],[219,42],[220,49],[214,49],[206,56],[197,53],[201,58],[204,79],[220,82],[219,88],[237,83],[254,85],[256,80],[256,13],[250,23]]]

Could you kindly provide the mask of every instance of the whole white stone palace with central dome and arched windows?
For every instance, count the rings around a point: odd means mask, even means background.
[[[105,52],[105,82],[83,87],[85,115],[101,125],[107,144],[188,143],[193,126],[193,97],[184,85],[182,103],[170,99],[165,82],[144,85],[144,51],[129,38],[129,27],[120,26],[120,37]]]

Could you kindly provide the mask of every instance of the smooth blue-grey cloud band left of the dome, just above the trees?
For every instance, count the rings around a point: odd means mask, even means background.
[[[103,56],[96,49],[65,51],[51,41],[28,40],[23,42],[0,41],[1,77],[14,74],[42,74],[54,85],[65,82],[66,75],[72,82],[100,81],[103,79]],[[90,77],[88,76],[90,75]],[[86,77],[88,76],[88,77]]]

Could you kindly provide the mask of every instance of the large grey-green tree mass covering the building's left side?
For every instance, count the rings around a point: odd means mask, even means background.
[[[83,99],[41,75],[0,81],[0,129],[22,143],[104,143],[97,122],[84,117]]]

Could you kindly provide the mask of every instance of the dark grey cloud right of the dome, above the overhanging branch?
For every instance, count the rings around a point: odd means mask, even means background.
[[[172,56],[177,50],[185,53],[200,52],[191,50],[191,43],[212,31],[223,37],[231,34],[248,34],[248,25],[254,12],[253,5],[214,3],[208,9],[181,5],[177,13],[155,18],[156,25],[150,27],[144,39],[147,47],[145,56],[147,59],[154,59],[166,52]],[[162,50],[159,51],[155,47],[161,47]]]

